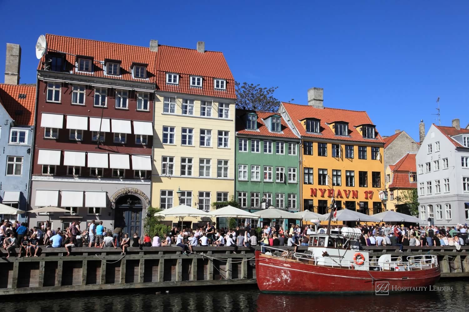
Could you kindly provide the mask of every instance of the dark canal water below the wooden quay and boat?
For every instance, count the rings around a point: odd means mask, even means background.
[[[253,285],[179,287],[166,290],[132,289],[44,293],[1,297],[8,312],[312,312],[469,311],[469,281],[439,282],[434,291],[376,295],[264,294]]]

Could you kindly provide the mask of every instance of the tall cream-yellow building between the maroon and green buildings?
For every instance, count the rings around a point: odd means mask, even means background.
[[[234,194],[234,79],[223,54],[201,42],[197,50],[159,46],[158,58],[151,205],[209,211]]]

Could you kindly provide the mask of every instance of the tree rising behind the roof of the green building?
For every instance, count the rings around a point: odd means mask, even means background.
[[[259,84],[242,84],[236,81],[236,108],[277,112],[280,101],[272,94],[278,87],[261,87]]]

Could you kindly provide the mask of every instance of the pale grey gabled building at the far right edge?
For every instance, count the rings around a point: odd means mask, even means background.
[[[421,123],[422,124],[422,123]],[[416,155],[419,216],[435,225],[469,220],[469,129],[432,124]]]

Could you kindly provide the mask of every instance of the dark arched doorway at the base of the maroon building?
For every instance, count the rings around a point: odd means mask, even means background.
[[[135,195],[120,197],[115,203],[114,227],[120,227],[123,233],[140,235],[142,228],[142,201]]]

